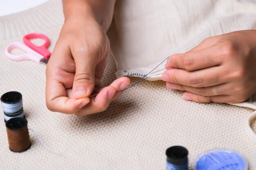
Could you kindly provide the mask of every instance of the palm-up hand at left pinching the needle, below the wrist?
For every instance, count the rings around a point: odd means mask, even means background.
[[[130,79],[121,77],[101,88],[110,42],[93,18],[65,20],[46,69],[46,105],[49,110],[88,115],[105,110],[121,95]],[[96,97],[88,98],[95,91]]]

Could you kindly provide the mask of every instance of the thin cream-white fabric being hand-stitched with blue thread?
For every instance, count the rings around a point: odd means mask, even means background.
[[[255,0],[117,0],[109,31],[116,75],[143,77],[205,38],[245,29],[256,29]],[[163,72],[147,80],[161,79]],[[256,109],[255,97],[234,105]]]

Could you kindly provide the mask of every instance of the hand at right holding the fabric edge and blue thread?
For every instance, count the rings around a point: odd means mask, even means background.
[[[168,67],[170,66],[170,67]],[[194,102],[244,102],[256,92],[256,30],[210,37],[171,55],[162,79]]]

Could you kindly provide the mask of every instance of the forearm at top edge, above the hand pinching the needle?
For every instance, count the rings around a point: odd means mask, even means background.
[[[108,30],[116,0],[63,0],[65,20],[93,18]]]

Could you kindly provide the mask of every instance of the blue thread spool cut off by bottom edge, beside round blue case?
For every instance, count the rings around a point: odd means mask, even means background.
[[[166,170],[189,170],[189,151],[182,146],[172,146],[166,150]]]

